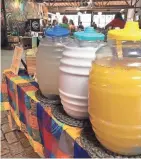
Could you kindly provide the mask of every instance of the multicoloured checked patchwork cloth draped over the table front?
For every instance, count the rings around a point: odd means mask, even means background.
[[[3,74],[1,110],[10,110],[26,134],[35,152],[46,158],[90,158],[80,146],[82,129],[56,120],[50,107],[36,99],[38,84],[24,70],[19,76],[6,70]]]

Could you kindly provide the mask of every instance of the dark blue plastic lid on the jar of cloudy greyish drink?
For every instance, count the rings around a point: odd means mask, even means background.
[[[51,37],[65,37],[69,35],[69,30],[66,28],[63,28],[59,25],[56,25],[54,28],[49,28],[45,31],[46,36]]]

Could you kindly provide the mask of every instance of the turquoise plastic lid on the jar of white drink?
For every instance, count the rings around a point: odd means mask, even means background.
[[[104,40],[105,38],[104,34],[96,32],[93,27],[87,27],[84,31],[75,32],[74,36],[78,40],[84,41]]]

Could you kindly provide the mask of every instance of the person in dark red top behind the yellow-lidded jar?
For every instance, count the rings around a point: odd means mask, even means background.
[[[122,18],[122,14],[118,12],[115,15],[115,18],[105,26],[105,29],[108,29],[109,27],[112,27],[112,28],[119,27],[120,29],[123,29],[124,25],[125,25],[125,21]]]

